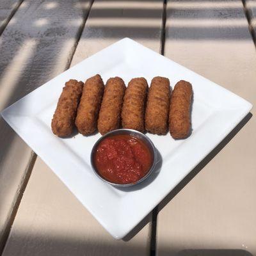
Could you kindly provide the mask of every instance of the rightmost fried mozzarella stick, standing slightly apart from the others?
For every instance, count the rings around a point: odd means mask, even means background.
[[[191,83],[179,81],[172,92],[169,112],[169,129],[172,138],[184,139],[189,135],[191,126],[190,105]]]

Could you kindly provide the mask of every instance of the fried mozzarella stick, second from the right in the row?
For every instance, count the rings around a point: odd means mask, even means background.
[[[165,77],[154,77],[148,90],[145,112],[145,129],[154,134],[166,134],[168,131],[168,113],[170,107],[170,81]]]

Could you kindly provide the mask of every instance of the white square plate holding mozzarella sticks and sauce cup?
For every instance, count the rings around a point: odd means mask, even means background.
[[[90,152],[100,134],[60,139],[52,134],[51,119],[63,85],[69,79],[85,81],[100,74],[104,82],[120,76],[168,77],[193,84],[193,132],[186,140],[170,134],[147,134],[159,150],[159,163],[150,179],[134,188],[117,189],[102,182],[90,166]],[[116,239],[122,239],[188,173],[220,143],[252,104],[191,70],[168,60],[129,38],[81,61],[40,88],[4,109],[3,118],[52,169],[77,199]],[[186,159],[186,161],[184,161]]]

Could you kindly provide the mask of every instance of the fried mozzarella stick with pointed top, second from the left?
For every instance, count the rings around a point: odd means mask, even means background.
[[[76,127],[83,135],[96,131],[104,84],[100,75],[90,77],[84,83],[82,97],[77,109]]]

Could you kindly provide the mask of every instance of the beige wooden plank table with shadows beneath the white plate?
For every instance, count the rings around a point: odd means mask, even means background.
[[[252,0],[1,0],[0,110],[126,36],[255,104],[255,10]],[[256,255],[254,115],[129,241],[113,239],[0,119],[0,253]]]

